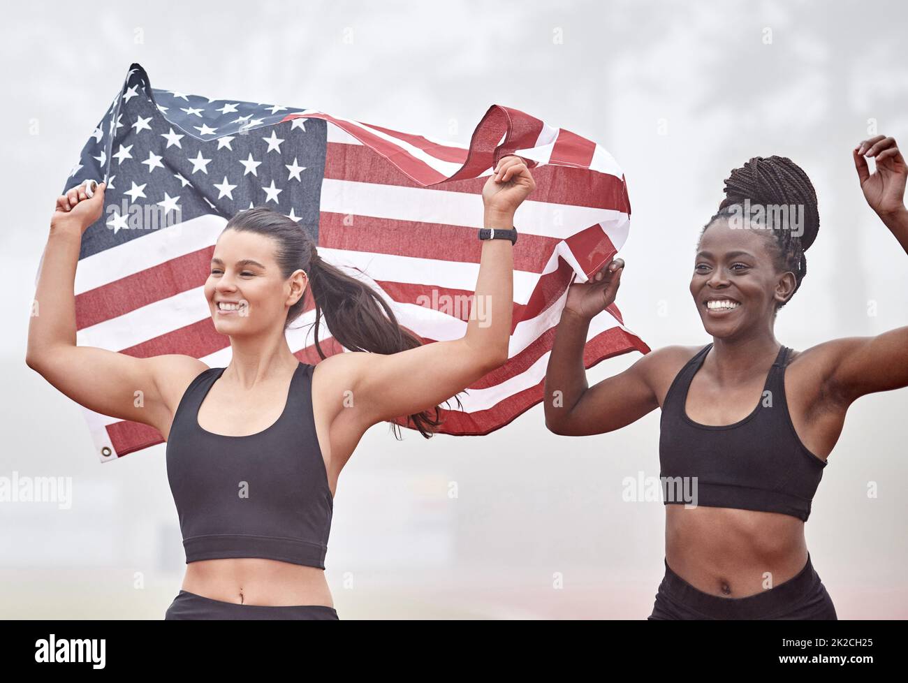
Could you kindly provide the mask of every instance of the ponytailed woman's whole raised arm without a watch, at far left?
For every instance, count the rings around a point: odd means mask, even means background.
[[[161,429],[169,424],[174,395],[174,387],[163,380],[182,378],[185,388],[207,367],[202,361],[178,355],[140,359],[76,346],[75,269],[82,234],[103,207],[104,183],[91,198],[79,185],[57,199],[28,324],[25,362],[85,408]]]

